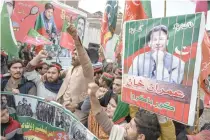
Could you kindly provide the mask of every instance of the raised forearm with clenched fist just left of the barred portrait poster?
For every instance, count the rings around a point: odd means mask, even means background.
[[[99,123],[99,125],[103,128],[104,132],[107,134],[110,134],[112,127],[114,126],[114,123],[109,119],[105,111],[103,111],[99,100],[96,96],[96,92],[98,91],[99,87],[95,83],[90,83],[88,85],[88,94],[90,96],[90,102],[91,102],[91,109],[93,112],[93,115],[96,118],[96,121]]]

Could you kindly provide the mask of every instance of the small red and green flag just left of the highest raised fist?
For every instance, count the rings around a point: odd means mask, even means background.
[[[67,21],[64,21],[62,31],[61,31],[61,39],[60,39],[60,46],[70,51],[74,49],[74,39],[72,36],[67,32],[69,25]]]

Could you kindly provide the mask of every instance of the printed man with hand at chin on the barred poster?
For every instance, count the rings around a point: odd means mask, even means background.
[[[181,84],[185,63],[166,51],[168,29],[155,26],[147,36],[151,51],[136,56],[128,74]]]

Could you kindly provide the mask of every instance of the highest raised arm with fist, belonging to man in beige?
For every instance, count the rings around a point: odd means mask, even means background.
[[[74,43],[75,43],[75,47],[78,52],[80,64],[83,69],[83,74],[84,74],[85,78],[88,79],[89,82],[92,82],[93,77],[94,77],[94,70],[93,70],[90,58],[89,58],[85,48],[82,46],[82,43],[77,35],[77,30],[73,24],[70,24],[70,26],[68,28],[68,33],[74,39]]]

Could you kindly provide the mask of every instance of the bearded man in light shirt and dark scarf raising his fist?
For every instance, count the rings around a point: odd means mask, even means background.
[[[55,100],[58,91],[63,83],[63,81],[59,79],[61,65],[57,63],[52,63],[47,70],[46,81],[44,82],[41,80],[40,74],[34,70],[41,59],[47,58],[47,56],[48,55],[46,51],[40,51],[39,54],[34,57],[26,66],[26,72],[24,76],[28,80],[30,79],[36,84],[37,96]]]

